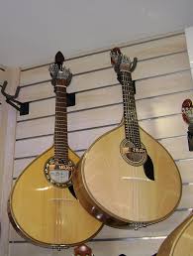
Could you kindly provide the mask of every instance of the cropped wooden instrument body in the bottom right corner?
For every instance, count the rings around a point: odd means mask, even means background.
[[[157,256],[193,255],[193,214],[170,233],[161,244]]]

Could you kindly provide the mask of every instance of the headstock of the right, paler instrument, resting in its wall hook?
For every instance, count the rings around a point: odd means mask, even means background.
[[[136,68],[138,59],[134,58],[132,62],[130,58],[123,55],[119,48],[114,48],[110,53],[111,64],[113,65],[115,71],[119,75],[120,72],[133,72]]]

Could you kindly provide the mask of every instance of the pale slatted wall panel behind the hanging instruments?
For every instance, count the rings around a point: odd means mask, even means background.
[[[97,256],[150,256],[163,238],[193,207],[193,155],[188,151],[187,127],[181,118],[182,101],[192,96],[193,85],[184,34],[145,41],[124,47],[138,57],[133,74],[141,126],[156,138],[175,159],[183,180],[179,207],[168,219],[138,231],[110,227],[97,235],[90,246]],[[122,118],[122,94],[110,65],[109,51],[66,61],[74,74],[68,87],[76,93],[76,105],[68,108],[69,145],[80,156],[104,132]],[[22,71],[20,99],[31,101],[30,114],[17,119],[14,179],[52,144],[54,94],[48,65]],[[52,252],[26,243],[10,228],[10,256],[71,255],[71,250]]]

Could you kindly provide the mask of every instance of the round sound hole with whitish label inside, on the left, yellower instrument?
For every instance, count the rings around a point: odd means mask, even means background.
[[[74,164],[68,160],[64,164],[62,160],[55,160],[50,158],[45,166],[45,175],[48,182],[59,188],[66,188],[71,186],[72,172]]]

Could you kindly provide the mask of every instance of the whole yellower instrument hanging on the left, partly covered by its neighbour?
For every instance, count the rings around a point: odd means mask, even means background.
[[[79,158],[67,143],[66,86],[72,74],[63,61],[57,53],[49,69],[56,94],[54,145],[23,171],[8,202],[15,229],[30,242],[50,248],[82,244],[103,225],[81,206],[71,183]]]

